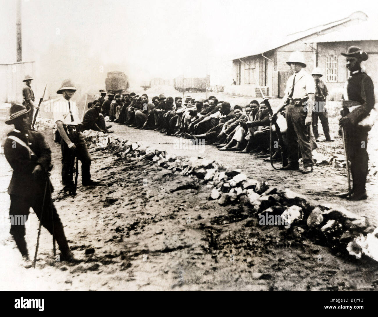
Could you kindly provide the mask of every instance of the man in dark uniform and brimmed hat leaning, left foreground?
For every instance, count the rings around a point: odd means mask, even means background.
[[[51,151],[42,134],[29,130],[29,112],[25,106],[14,104],[6,124],[14,124],[4,143],[4,154],[13,169],[8,193],[11,197],[9,215],[11,231],[24,260],[29,260],[25,241],[25,222],[29,208],[33,208],[39,221],[54,235],[61,252],[60,260],[76,261],[68,247],[62,222],[51,201]],[[17,219],[17,221],[15,221]],[[19,221],[21,220],[21,223]]]

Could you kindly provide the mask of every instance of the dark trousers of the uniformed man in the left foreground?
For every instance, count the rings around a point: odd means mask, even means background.
[[[62,251],[62,253],[69,251],[62,222],[60,221],[59,215],[51,201],[51,191],[49,187],[47,187],[45,201],[43,201],[44,193],[33,194],[33,196],[19,196],[14,194],[9,196],[11,197],[11,205],[9,207],[11,230],[9,233],[16,241],[17,247],[19,247],[22,255],[28,254],[24,236],[25,222],[28,219],[30,208],[33,208],[34,213],[36,213],[36,216],[39,221],[41,221],[43,227],[45,227],[51,234],[54,234],[60,251]]]

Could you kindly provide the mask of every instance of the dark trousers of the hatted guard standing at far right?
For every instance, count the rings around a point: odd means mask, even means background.
[[[345,130],[346,150],[350,160],[350,172],[353,179],[353,194],[365,192],[368,172],[367,131],[358,126],[349,126]]]

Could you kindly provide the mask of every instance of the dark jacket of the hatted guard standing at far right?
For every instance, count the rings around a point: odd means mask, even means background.
[[[369,75],[361,70],[353,72],[347,81],[347,95],[349,100],[361,104],[347,115],[350,122],[356,125],[369,115],[374,107],[374,85]]]

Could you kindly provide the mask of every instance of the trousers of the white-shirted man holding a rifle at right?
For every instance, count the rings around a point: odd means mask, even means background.
[[[289,104],[286,108],[288,162],[298,165],[298,147],[302,154],[303,165],[312,167],[310,129],[305,124],[307,111],[302,105]]]

